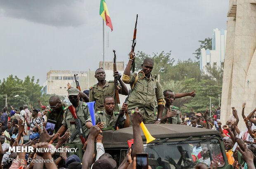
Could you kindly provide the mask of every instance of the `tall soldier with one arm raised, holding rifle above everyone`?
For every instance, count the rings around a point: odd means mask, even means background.
[[[161,123],[162,112],[164,109],[164,95],[156,75],[152,76],[151,72],[154,62],[150,58],[146,58],[142,64],[142,70],[137,73],[130,73],[130,67],[135,57],[134,52],[130,52],[130,60],[123,72],[123,82],[134,86],[128,100],[128,112],[138,107],[143,115],[143,123]],[[158,104],[158,117],[155,120],[154,107]]]

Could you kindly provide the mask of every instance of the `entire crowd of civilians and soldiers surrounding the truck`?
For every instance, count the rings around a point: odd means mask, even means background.
[[[223,139],[226,155],[229,164],[237,169],[239,167],[254,169],[256,162],[256,120],[254,119],[254,111],[245,116],[244,109],[246,103],[242,105],[242,117],[246,123],[247,130],[244,131],[242,139],[237,138],[237,134],[241,133],[241,129],[237,127],[239,118],[237,110],[232,107],[233,115],[230,116],[222,126],[220,122],[220,107],[213,107],[213,116],[209,117],[209,110],[205,113],[195,112],[191,107],[191,116],[181,114],[179,108],[173,105],[175,99],[181,97],[195,97],[195,90],[189,93],[174,93],[171,89],[162,91],[156,76],[152,75],[154,62],[147,58],[142,63],[142,70],[138,73],[130,73],[130,67],[135,57],[135,53],[130,53],[130,59],[123,73],[122,79],[117,79],[119,85],[115,88],[114,81],[105,80],[104,69],[99,68],[95,71],[95,78],[98,83],[90,87],[90,90],[84,92],[73,88],[68,84],[68,98],[71,105],[63,103],[58,96],[52,96],[49,99],[49,106],[41,104],[40,109],[30,109],[27,105],[21,106],[19,111],[11,108],[9,113],[8,106],[5,106],[0,113],[0,160],[3,169],[55,169],[66,167],[69,169],[135,169],[136,154],[144,153],[143,141],[140,133],[140,123],[152,124],[177,124],[187,125],[187,127],[207,128],[217,130]],[[116,78],[119,72],[114,72]],[[130,84],[129,91],[125,83]],[[115,89],[122,95],[128,95],[128,102],[121,106],[117,104],[117,95]],[[94,102],[94,117],[92,118],[86,102]],[[124,118],[119,120],[120,113]],[[202,118],[203,117],[203,118]],[[95,125],[93,120],[95,118]],[[50,135],[46,130],[47,120],[55,121],[54,134]],[[114,127],[116,122],[118,128],[133,127],[133,150],[128,149],[123,162],[118,166],[116,161],[110,154],[105,153],[102,144],[101,132],[104,130],[116,130]],[[29,139],[26,139],[26,136]],[[95,149],[96,142],[96,149]],[[232,151],[234,144],[237,142],[238,148]],[[21,146],[33,146],[36,148],[48,148],[55,143],[55,148],[63,147],[65,143],[83,144],[84,155],[82,161],[77,155],[67,157],[66,152],[59,153],[55,157],[55,153],[51,152],[12,152],[13,148]],[[12,148],[12,150],[9,150]],[[199,163],[196,168],[206,168],[216,166],[216,159],[211,159],[209,153],[204,147],[196,148]],[[242,153],[246,162],[239,166],[237,151]],[[171,152],[168,152],[171,153]],[[223,157],[222,157],[223,158]],[[31,159],[31,160],[29,160]],[[254,161],[255,160],[255,161]],[[64,166],[62,165],[64,164]],[[256,163],[255,163],[256,164]],[[217,163],[218,165],[218,163]],[[159,166],[160,167],[160,166]],[[148,168],[151,168],[148,166]],[[163,167],[162,167],[163,168]],[[159,168],[161,169],[161,167]]]

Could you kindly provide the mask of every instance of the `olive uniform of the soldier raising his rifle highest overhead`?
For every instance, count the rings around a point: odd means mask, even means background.
[[[140,113],[143,115],[143,123],[154,123],[154,107],[157,104],[154,97],[156,97],[156,100],[164,100],[161,85],[156,80],[156,75],[152,76],[150,74],[149,79],[147,77],[142,79],[143,74],[141,72],[138,75],[137,73],[131,73],[130,76],[123,74],[122,80],[124,83],[133,86],[136,76],[139,76],[139,79],[137,79],[128,99],[129,116],[130,112],[138,107],[141,110]]]

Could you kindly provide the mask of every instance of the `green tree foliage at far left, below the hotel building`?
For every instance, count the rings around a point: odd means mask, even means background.
[[[48,106],[49,99],[52,95],[44,94],[42,95],[42,87],[39,85],[39,79],[35,81],[35,77],[26,76],[24,81],[19,79],[17,76],[9,75],[7,79],[3,79],[0,84],[0,106],[5,106],[5,94],[7,94],[7,103],[8,105],[12,105],[14,108],[19,110],[20,106],[24,104],[32,104],[34,109],[39,109],[40,102]],[[14,97],[15,95],[19,95],[19,97]],[[61,100],[64,100],[63,96],[59,96]]]

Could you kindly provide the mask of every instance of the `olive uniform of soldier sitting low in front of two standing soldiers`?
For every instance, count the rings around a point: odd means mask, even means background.
[[[108,115],[105,110],[103,111],[97,111],[95,113],[95,123],[103,123],[104,129],[102,130],[108,130],[108,129],[114,129],[114,125],[116,124],[116,120],[119,116],[119,112],[113,112],[112,116]],[[87,121],[92,122],[91,118],[88,118]],[[124,121],[121,123],[121,128],[123,128]]]

